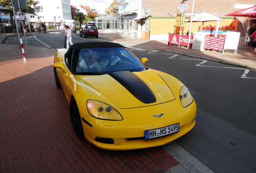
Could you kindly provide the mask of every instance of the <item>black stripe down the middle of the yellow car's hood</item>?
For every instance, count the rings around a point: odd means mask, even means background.
[[[151,89],[130,71],[111,72],[109,75],[124,86],[142,103],[155,103],[157,100]]]

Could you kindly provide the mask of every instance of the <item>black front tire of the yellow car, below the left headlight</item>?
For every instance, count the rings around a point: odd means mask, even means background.
[[[80,113],[74,99],[70,101],[70,120],[76,136],[80,139],[85,139]]]

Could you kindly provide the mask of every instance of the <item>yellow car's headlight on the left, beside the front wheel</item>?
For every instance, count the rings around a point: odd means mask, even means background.
[[[95,100],[87,101],[87,110],[91,116],[104,120],[122,120],[123,117],[113,107]]]

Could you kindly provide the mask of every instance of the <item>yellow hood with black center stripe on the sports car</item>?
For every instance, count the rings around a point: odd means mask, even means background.
[[[175,99],[155,70],[118,71],[100,76],[79,76],[120,109],[145,107]],[[91,98],[93,99],[93,98]]]

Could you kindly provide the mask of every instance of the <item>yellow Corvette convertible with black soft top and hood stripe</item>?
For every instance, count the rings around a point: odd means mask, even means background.
[[[113,42],[59,49],[54,76],[70,105],[76,135],[108,150],[155,147],[188,133],[196,103],[173,76],[145,66]]]

